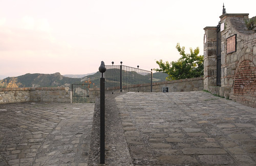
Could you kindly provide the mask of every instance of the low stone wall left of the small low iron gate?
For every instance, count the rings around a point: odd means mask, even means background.
[[[0,104],[16,102],[71,102],[68,87],[0,88]]]

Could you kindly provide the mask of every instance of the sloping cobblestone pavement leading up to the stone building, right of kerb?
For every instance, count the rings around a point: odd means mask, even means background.
[[[134,165],[256,165],[255,108],[204,91],[127,92],[115,102]]]

